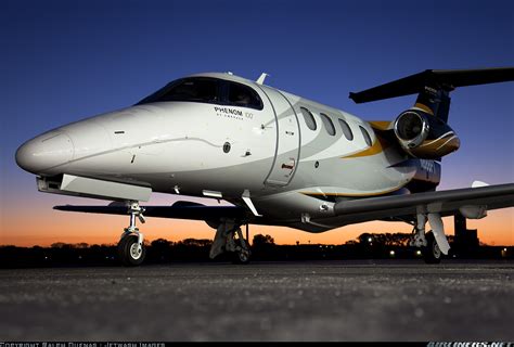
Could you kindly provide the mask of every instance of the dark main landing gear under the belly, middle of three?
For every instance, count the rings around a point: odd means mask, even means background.
[[[221,220],[216,230],[216,236],[210,247],[210,259],[229,252],[233,254],[234,264],[248,264],[250,257],[248,244],[248,226],[246,224],[246,240],[241,231],[241,224],[234,220]]]

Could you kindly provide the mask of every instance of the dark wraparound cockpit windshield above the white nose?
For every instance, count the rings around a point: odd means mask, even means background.
[[[210,77],[182,78],[168,83],[138,105],[153,102],[189,101],[262,110],[262,101],[250,87]]]

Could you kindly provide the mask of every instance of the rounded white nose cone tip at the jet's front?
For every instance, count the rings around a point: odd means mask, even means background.
[[[16,163],[26,171],[44,174],[73,156],[72,139],[62,131],[52,131],[22,144],[16,151]]]

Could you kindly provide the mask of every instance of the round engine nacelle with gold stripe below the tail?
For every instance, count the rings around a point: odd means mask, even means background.
[[[461,141],[441,119],[419,110],[408,110],[395,120],[395,134],[401,147],[423,159],[437,159],[459,150]]]

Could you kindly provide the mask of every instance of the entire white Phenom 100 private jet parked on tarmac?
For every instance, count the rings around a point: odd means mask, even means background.
[[[403,221],[413,227],[410,245],[437,264],[450,248],[442,217],[478,219],[514,206],[514,183],[436,190],[441,158],[460,146],[448,125],[450,92],[513,81],[514,67],[427,69],[351,92],[356,103],[417,94],[412,107],[377,121],[269,87],[266,78],[208,73],[177,79],[132,106],[25,142],[16,163],[36,175],[40,192],[110,202],[57,210],[127,215],[118,243],[126,266],[145,257],[137,227],[145,217],[203,220],[216,230],[210,257],[228,252],[242,264],[250,257],[248,224],[319,233]],[[183,197],[140,205],[153,192]]]

